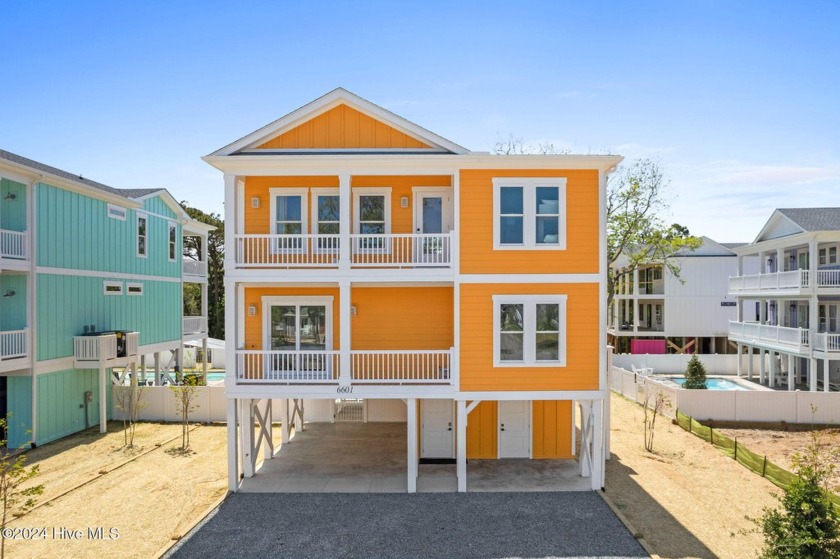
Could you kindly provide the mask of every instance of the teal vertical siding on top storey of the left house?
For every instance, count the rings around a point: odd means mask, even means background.
[[[147,214],[148,256],[137,256],[137,212],[108,217],[108,204],[40,183],[37,191],[37,265],[98,272],[181,277],[181,257],[169,260],[169,224]],[[181,226],[178,239],[181,238]]]

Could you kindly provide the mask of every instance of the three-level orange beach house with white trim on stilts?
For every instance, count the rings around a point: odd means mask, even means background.
[[[577,458],[602,487],[621,157],[471,152],[339,88],[204,160],[225,184],[231,490],[272,418],[286,441],[352,413],[405,422],[408,492],[421,459],[454,461],[459,491],[467,459],[499,458]]]

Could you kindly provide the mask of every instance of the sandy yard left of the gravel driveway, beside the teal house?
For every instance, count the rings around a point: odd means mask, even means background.
[[[122,424],[109,424],[109,431],[86,431],[28,453],[27,465],[40,465],[35,481],[45,486],[39,502],[46,504],[9,527],[47,528],[47,537],[7,539],[9,557],[151,557],[227,492],[223,425],[195,427],[188,453],[179,450],[177,424],[139,424],[134,450],[123,447]],[[95,527],[105,528],[106,539],[89,537]],[[62,528],[82,536],[60,539]],[[117,538],[108,539],[111,529]]]

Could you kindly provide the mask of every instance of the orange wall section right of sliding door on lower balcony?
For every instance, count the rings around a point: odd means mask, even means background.
[[[451,287],[354,288],[353,349],[449,349]]]

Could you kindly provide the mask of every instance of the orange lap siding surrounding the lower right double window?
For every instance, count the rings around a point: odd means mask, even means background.
[[[493,295],[568,295],[565,367],[493,367]],[[598,284],[461,284],[461,390],[597,390]]]

